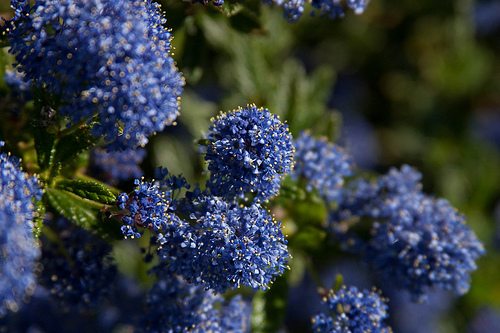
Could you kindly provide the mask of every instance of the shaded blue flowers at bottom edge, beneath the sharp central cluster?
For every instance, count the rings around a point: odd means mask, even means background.
[[[236,296],[229,302],[211,290],[186,283],[168,272],[149,292],[146,332],[249,332],[249,305]]]

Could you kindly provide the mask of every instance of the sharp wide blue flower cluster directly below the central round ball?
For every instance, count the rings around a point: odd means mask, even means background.
[[[190,210],[190,236],[196,241],[171,263],[189,282],[218,292],[240,286],[267,289],[287,269],[281,224],[259,204],[244,207],[201,196]]]

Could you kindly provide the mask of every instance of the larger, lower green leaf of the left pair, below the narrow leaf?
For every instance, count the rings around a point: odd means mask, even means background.
[[[105,239],[123,238],[118,223],[105,219],[101,214],[104,205],[68,191],[53,188],[46,190],[45,197],[52,208],[76,225],[93,231]]]

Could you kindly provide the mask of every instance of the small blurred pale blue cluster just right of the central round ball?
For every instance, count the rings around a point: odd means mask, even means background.
[[[344,178],[352,175],[352,159],[340,147],[326,139],[302,133],[295,140],[293,178],[303,178],[308,191],[316,190],[328,202],[342,195]]]

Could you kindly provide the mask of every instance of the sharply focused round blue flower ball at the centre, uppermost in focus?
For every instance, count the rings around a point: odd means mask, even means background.
[[[249,105],[222,113],[212,120],[208,133],[207,187],[225,198],[254,193],[257,201],[267,200],[291,171],[293,153],[288,126],[269,110]]]

